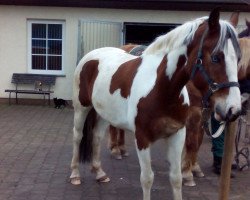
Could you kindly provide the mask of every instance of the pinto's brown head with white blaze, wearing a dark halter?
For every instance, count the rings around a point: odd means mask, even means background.
[[[235,29],[219,20],[218,9],[199,25],[187,52],[191,78],[203,94],[203,105],[210,106],[219,121],[235,120],[241,111],[237,78],[240,48]]]

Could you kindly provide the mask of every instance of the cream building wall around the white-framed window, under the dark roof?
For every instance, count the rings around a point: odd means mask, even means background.
[[[7,98],[4,89],[14,88],[13,73],[27,73],[27,20],[65,20],[65,76],[57,77],[54,96],[70,100],[72,80],[77,62],[78,21],[100,20],[112,22],[183,23],[208,12],[119,10],[62,7],[0,6],[0,98]],[[231,13],[222,13],[229,19]],[[250,13],[241,13],[239,24],[245,24]],[[31,96],[24,96],[30,98]],[[33,98],[38,98],[34,96]]]

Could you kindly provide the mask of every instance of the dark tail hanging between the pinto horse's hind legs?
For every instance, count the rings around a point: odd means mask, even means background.
[[[97,114],[94,108],[92,108],[85,120],[83,127],[83,137],[79,146],[79,161],[90,162],[93,154],[93,129],[95,127]]]

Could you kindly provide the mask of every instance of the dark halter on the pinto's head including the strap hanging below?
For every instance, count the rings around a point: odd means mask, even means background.
[[[208,33],[208,28],[205,30],[205,32],[202,35],[201,41],[200,41],[200,46],[198,49],[198,55],[196,59],[196,63],[193,66],[192,72],[191,72],[191,79],[194,78],[196,71],[199,70],[201,72],[201,75],[203,78],[206,80],[208,84],[208,91],[207,93],[202,97],[202,123],[203,123],[203,129],[205,130],[206,134],[209,136],[212,136],[212,134],[209,131],[209,123],[208,119],[211,116],[211,110],[209,106],[209,100],[210,97],[218,90],[223,89],[223,88],[229,88],[229,87],[240,87],[238,82],[231,81],[231,82],[226,82],[226,83],[216,83],[213,81],[212,78],[207,74],[203,64],[202,64],[202,47],[204,43],[204,38],[206,37]]]

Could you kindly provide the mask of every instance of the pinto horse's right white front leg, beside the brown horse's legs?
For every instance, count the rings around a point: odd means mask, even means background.
[[[173,190],[173,199],[182,200],[181,156],[185,143],[186,127],[166,139],[167,160],[170,163],[169,179]]]

